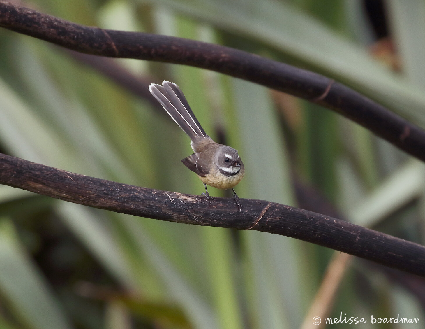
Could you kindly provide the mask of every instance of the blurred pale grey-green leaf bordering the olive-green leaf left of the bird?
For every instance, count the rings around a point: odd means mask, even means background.
[[[32,99],[32,110],[54,132],[51,133],[51,139],[63,141],[65,149],[75,152],[74,159],[85,163],[84,172],[77,168],[61,168],[98,177],[107,176],[107,172],[119,171],[121,180],[134,181],[127,165],[119,158],[116,150],[112,149],[105,134],[99,129],[98,122],[90,116],[77,95],[72,94],[71,88],[66,88],[66,85],[61,88],[46,70],[40,57],[45,60],[50,55],[43,54],[44,51],[40,54],[40,50],[33,42],[30,46],[27,43],[17,43],[15,51],[18,56],[15,57],[14,64],[27,87],[26,97]],[[51,61],[49,66],[50,64]],[[57,149],[51,149],[51,152],[55,151],[58,152]],[[75,161],[68,163],[71,162]]]

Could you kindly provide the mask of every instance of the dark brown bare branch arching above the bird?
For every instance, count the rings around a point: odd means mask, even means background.
[[[87,54],[196,66],[316,101],[425,161],[424,130],[320,74],[210,43],[78,25],[3,0],[0,26]]]

